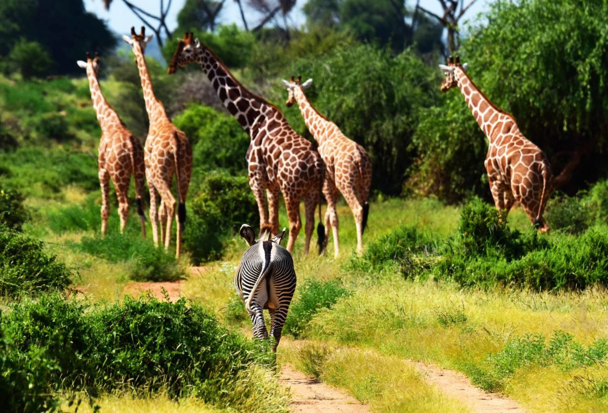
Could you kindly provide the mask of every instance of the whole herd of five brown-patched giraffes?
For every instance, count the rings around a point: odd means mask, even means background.
[[[140,34],[131,28],[131,36],[123,36],[130,44],[142,85],[150,128],[145,144],[126,128],[116,111],[103,96],[97,80],[99,57],[87,54],[86,69],[91,99],[102,129],[99,144],[98,175],[102,188],[102,235],[107,232],[109,215],[109,180],[116,188],[119,202],[120,231],[128,216],[127,192],[131,175],[136,186],[137,212],[142,235],[145,216],[142,208],[143,177],[150,191],[150,219],[154,244],[159,239],[165,249],[170,247],[173,215],[176,214],[176,256],[181,253],[181,236],[185,225],[185,200],[192,174],[192,148],[185,133],[168,118],[164,105],[154,95],[150,73],[145,62],[146,44],[142,27]],[[331,229],[334,256],[339,255],[338,217],[336,204],[342,193],[350,207],[357,228],[357,252],[363,250],[362,236],[367,225],[371,184],[371,160],[365,149],[348,139],[336,124],[325,118],[304,90],[312,79],[302,83],[300,77],[283,80],[288,91],[286,105],[297,102],[306,127],[317,142],[300,136],[291,128],[283,113],[275,106],[241,85],[223,62],[206,45],[193,38],[192,33],[179,40],[168,67],[172,74],[179,67],[195,62],[206,73],[220,101],[240,123],[250,138],[247,149],[247,174],[260,213],[260,228],[277,234],[280,197],[285,201],[289,219],[287,250],[291,252],[301,228],[300,200],[304,199],[305,247],[308,253],[314,231],[314,213],[325,196],[327,209],[325,227]],[[466,64],[450,57],[448,65],[440,65],[445,74],[441,91],[458,86],[477,123],[488,137],[486,171],[496,208],[507,212],[519,203],[539,231],[548,231],[542,213],[551,191],[551,169],[541,149],[528,141],[517,128],[513,116],[495,107],[466,74]],[[176,175],[178,197],[171,193]],[[157,206],[157,197],[161,198]],[[161,226],[160,238],[158,226]],[[319,250],[327,245],[325,227],[319,222]]]

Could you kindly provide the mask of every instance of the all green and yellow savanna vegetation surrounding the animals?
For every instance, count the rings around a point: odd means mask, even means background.
[[[486,139],[461,95],[438,90],[443,27],[413,2],[395,4],[309,0],[300,29],[286,19],[222,26],[217,13],[188,12],[198,7],[190,0],[179,13],[176,33],[194,31],[309,139],[280,79],[313,78],[311,102],[373,161],[365,252],[353,254],[342,204],[338,259],[303,256],[298,239],[299,284],[275,358],[249,339],[232,284],[244,250],[235,234],[258,222],[249,137],[204,74],[192,65],[168,76],[148,57],[195,159],[178,261],[141,237],[135,208],[119,233],[113,194],[100,236],[100,129],[75,62],[100,52],[103,93],[143,141],[130,53],[114,51],[80,0],[2,2],[0,393],[10,397],[0,410],[287,411],[277,365],[289,362],[373,411],[468,411],[412,359],[459,370],[532,412],[608,409],[608,6],[498,0],[458,27],[471,78],[559,176],[551,235],[539,235],[520,210],[506,219],[488,203]],[[49,24],[36,24],[41,16]],[[164,39],[165,59],[175,46]],[[284,209],[280,219],[287,226]],[[128,293],[134,281],[174,280],[187,297],[178,302]]]

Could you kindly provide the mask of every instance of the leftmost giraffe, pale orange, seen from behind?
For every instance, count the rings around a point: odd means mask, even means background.
[[[86,62],[78,60],[77,64],[86,69],[91,89],[91,100],[97,121],[102,128],[102,138],[99,141],[97,171],[102,187],[102,235],[108,232],[109,216],[109,180],[114,183],[118,199],[120,216],[120,233],[125,231],[126,220],[129,216],[128,192],[131,174],[135,180],[137,213],[142,225],[143,238],[146,237],[145,215],[142,208],[145,171],[143,166],[143,148],[133,133],[130,132],[108,104],[99,88],[97,74],[99,72],[99,55],[95,57],[86,54]]]

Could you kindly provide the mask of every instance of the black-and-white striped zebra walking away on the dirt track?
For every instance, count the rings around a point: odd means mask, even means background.
[[[241,258],[234,277],[234,286],[249,312],[254,337],[259,339],[268,338],[262,312],[268,308],[271,319],[270,334],[274,337],[272,351],[276,352],[296,283],[294,260],[288,250],[280,245],[285,236],[285,228],[271,238],[271,228],[263,227],[257,241],[254,230],[247,224],[241,226],[239,233],[249,244],[249,248]]]

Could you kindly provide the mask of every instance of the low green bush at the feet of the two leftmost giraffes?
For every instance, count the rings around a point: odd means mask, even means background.
[[[134,228],[124,234],[108,233],[104,238],[85,236],[73,247],[112,263],[129,263],[129,277],[134,281],[171,281],[185,275],[184,267],[173,254],[163,247],[155,247]]]

